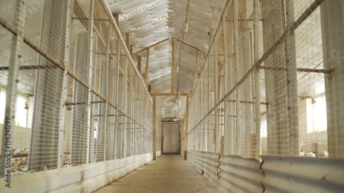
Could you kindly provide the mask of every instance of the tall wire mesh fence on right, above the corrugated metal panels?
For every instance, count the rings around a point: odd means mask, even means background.
[[[340,7],[226,1],[191,98],[189,150],[343,159]]]

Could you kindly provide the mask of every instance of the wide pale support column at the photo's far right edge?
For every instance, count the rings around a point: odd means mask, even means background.
[[[329,157],[344,158],[344,1],[323,1],[321,32],[325,69],[327,141]]]

